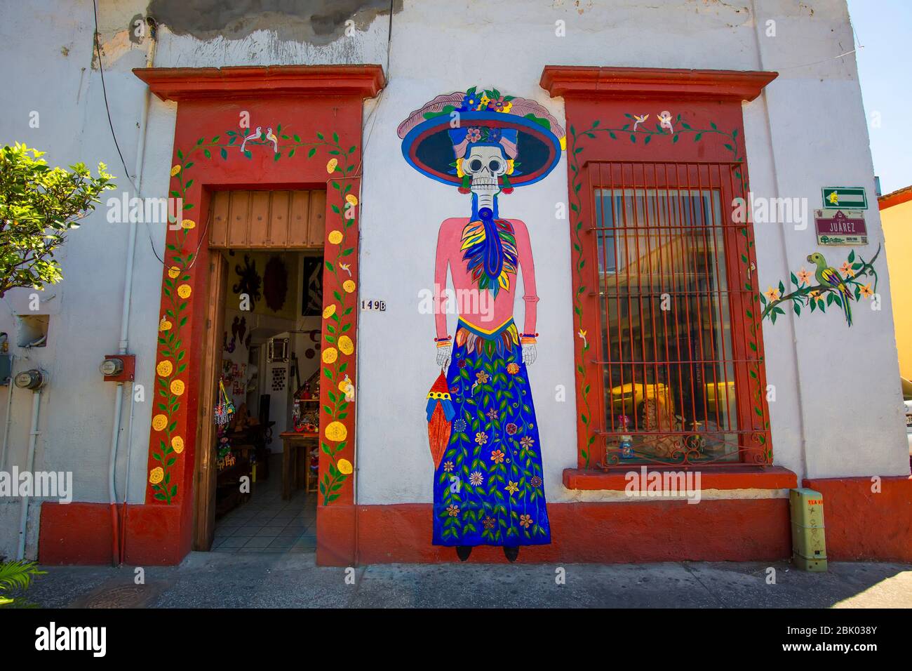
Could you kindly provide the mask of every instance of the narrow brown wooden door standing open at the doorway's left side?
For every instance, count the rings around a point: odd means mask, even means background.
[[[203,333],[203,361],[200,380],[200,417],[196,432],[196,460],[193,466],[193,550],[207,551],[215,535],[215,402],[222,362],[224,297],[228,260],[218,251],[209,257],[209,305]]]

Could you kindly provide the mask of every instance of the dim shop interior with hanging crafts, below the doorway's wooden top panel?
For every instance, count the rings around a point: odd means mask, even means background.
[[[227,260],[228,275],[211,446],[212,550],[312,550],[323,257],[215,253]]]

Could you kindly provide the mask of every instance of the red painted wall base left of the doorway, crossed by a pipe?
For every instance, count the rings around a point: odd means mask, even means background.
[[[181,534],[181,508],[127,507],[125,561],[131,565],[180,563],[190,551]],[[41,505],[38,561],[42,564],[111,563],[111,514],[107,503]]]

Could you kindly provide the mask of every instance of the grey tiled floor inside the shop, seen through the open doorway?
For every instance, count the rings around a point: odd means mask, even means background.
[[[250,500],[215,522],[213,552],[300,553],[316,550],[316,492],[298,489],[282,500],[282,456],[269,479],[254,483]]]

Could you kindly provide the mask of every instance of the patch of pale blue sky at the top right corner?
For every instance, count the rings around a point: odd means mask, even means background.
[[[889,194],[912,186],[912,2],[848,0],[848,5],[874,173],[880,177],[881,192]]]

